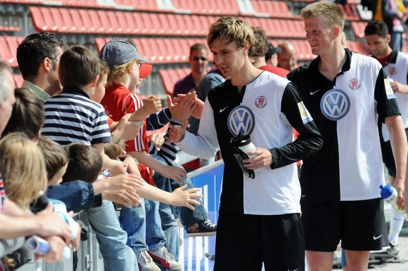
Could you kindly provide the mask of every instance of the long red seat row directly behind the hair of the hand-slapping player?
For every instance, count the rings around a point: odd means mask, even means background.
[[[77,34],[127,34],[163,36],[206,36],[218,17],[171,13],[146,13],[30,7],[33,25],[39,32]],[[250,25],[261,26],[270,37],[302,38],[300,20],[247,17]]]

